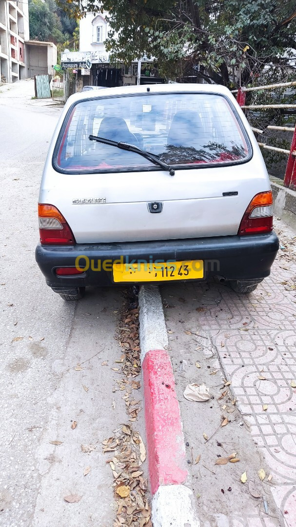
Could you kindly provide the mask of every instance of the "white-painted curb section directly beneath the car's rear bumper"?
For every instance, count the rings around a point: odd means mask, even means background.
[[[166,349],[169,346],[159,287],[141,286],[140,345],[141,364],[147,352],[152,349]]]

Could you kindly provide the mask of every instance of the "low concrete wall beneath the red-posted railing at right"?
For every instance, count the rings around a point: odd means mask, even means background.
[[[274,214],[279,216],[288,225],[296,228],[296,192],[287,189],[278,183],[270,182]]]

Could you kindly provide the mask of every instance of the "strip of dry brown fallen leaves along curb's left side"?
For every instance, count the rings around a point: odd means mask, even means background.
[[[119,341],[123,353],[116,363],[121,365],[124,377],[114,379],[117,386],[115,385],[113,391],[123,392],[122,398],[129,423],[122,424],[121,428],[113,431],[111,437],[102,442],[103,453],[111,454],[106,463],[113,474],[117,509],[113,527],[152,527],[151,509],[147,500],[148,482],[142,470],[146,460],[146,448],[133,424],[142,409],[140,401],[132,395],[133,390],[141,387],[140,381],[136,380],[141,373],[139,308],[137,296],[131,296],[127,290],[124,292],[123,311],[117,330],[119,335],[115,338]]]

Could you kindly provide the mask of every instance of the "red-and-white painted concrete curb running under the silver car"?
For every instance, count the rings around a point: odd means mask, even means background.
[[[199,527],[193,493],[183,485],[188,472],[175,379],[159,288],[139,293],[145,426],[154,527]]]

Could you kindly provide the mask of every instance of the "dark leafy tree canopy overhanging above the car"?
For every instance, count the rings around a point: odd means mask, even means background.
[[[198,69],[209,82],[243,82],[295,46],[294,0],[57,0],[76,18],[108,12],[114,62],[155,57],[163,74]]]

